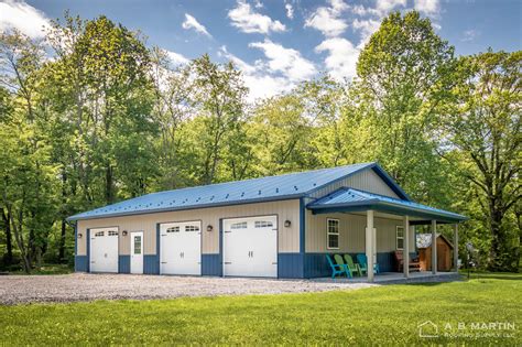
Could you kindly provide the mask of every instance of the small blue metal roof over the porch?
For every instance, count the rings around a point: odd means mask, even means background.
[[[441,223],[458,223],[467,220],[466,216],[448,210],[403,200],[389,196],[378,195],[354,188],[339,188],[315,202],[306,205],[314,214],[349,213],[374,209],[379,212],[420,217],[427,220],[436,219]],[[412,224],[424,224],[423,220]]]

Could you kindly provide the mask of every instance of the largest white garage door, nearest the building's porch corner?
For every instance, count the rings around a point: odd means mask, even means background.
[[[224,220],[224,274],[278,276],[278,217]]]

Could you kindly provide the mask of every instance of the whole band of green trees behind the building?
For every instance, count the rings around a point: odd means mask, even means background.
[[[251,105],[232,63],[173,66],[104,15],[66,13],[45,39],[52,59],[0,39],[6,265],[70,262],[65,218],[123,198],[378,161],[414,199],[469,216],[460,243],[481,264],[519,269],[521,52],[456,59],[429,19],[391,13],[351,83],[322,76]]]

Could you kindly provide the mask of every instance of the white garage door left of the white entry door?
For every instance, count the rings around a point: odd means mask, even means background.
[[[90,272],[118,272],[118,228],[90,229]]]

